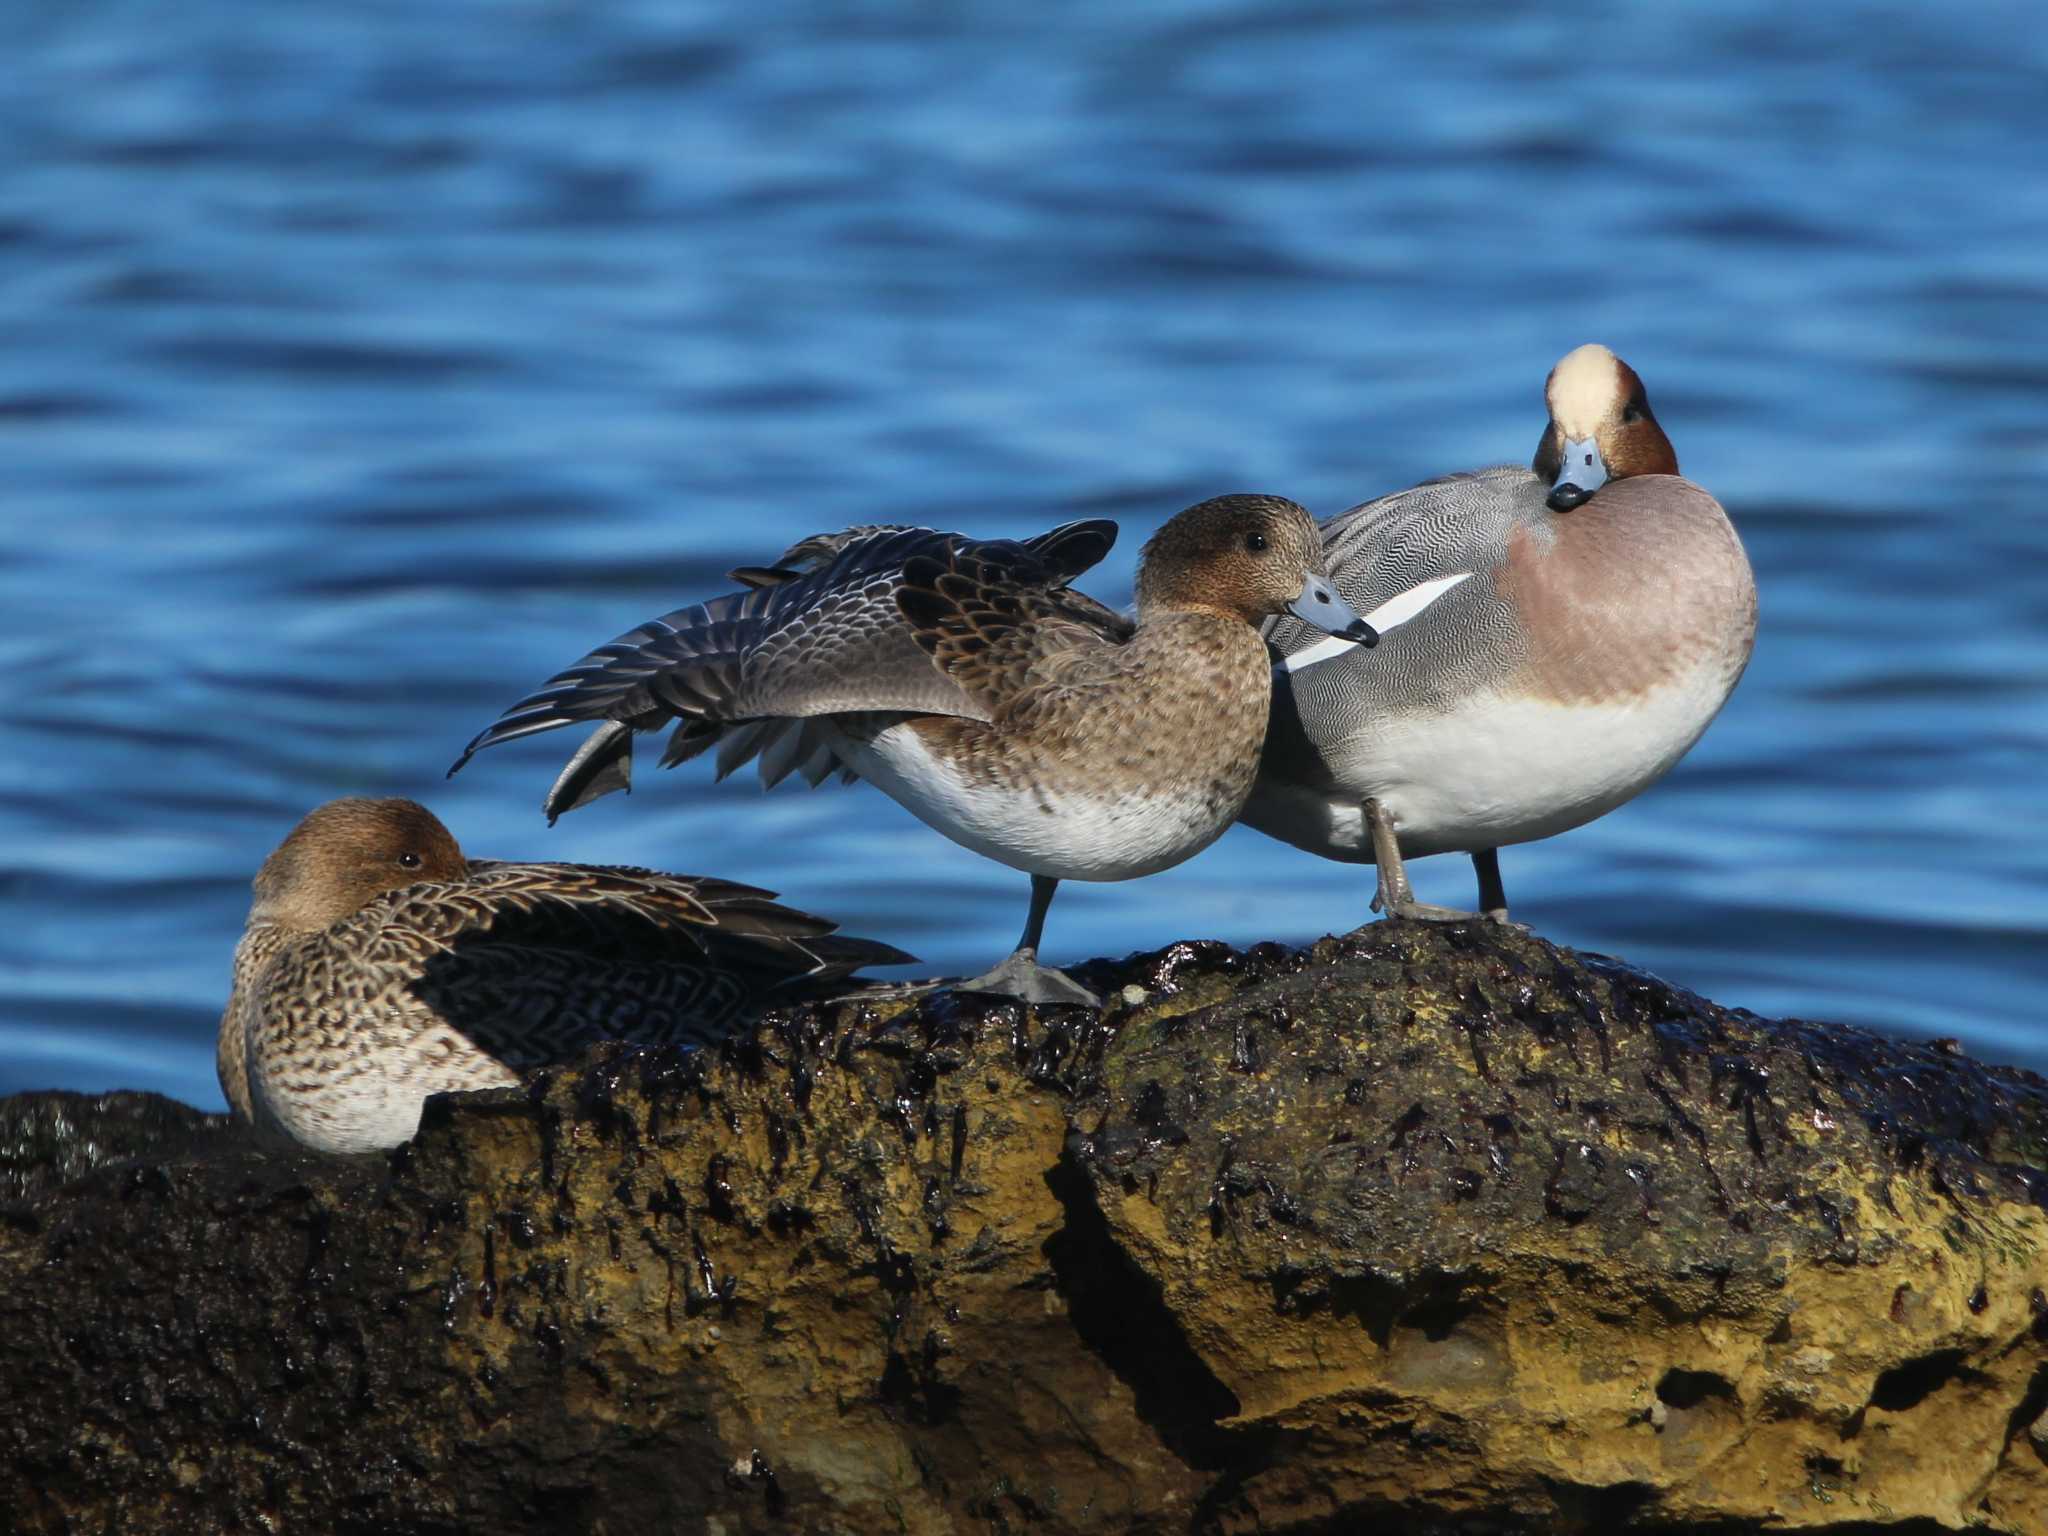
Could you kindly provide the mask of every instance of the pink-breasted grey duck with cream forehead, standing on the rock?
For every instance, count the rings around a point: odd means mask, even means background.
[[[1339,596],[1464,573],[1370,666],[1288,618],[1243,821],[1378,866],[1372,907],[1507,922],[1499,850],[1624,805],[1700,739],[1757,633],[1735,524],[1679,475],[1642,379],[1579,346],[1528,467],[1430,479],[1321,524]],[[1479,909],[1415,899],[1405,858],[1464,852]]]

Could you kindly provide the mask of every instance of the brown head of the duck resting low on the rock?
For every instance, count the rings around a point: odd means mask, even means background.
[[[250,918],[315,934],[385,891],[459,881],[469,864],[440,819],[414,801],[328,801],[256,870]]]

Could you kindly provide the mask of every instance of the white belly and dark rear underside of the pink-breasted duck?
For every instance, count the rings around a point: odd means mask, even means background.
[[[1655,784],[1731,686],[1716,666],[1630,702],[1477,694],[1442,715],[1389,715],[1327,750],[1335,791],[1262,778],[1243,819],[1360,864],[1372,862],[1366,799],[1389,811],[1411,858],[1550,838]]]

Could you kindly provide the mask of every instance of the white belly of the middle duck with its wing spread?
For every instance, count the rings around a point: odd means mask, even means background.
[[[979,782],[934,758],[907,725],[872,739],[836,731],[834,752],[934,831],[1010,868],[1057,881],[1130,881],[1223,836],[1202,797],[1079,795]]]

